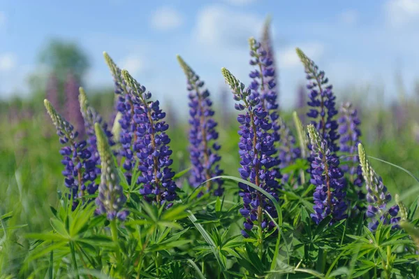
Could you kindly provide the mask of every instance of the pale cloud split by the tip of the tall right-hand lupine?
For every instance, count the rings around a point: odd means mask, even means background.
[[[314,61],[318,60],[324,52],[324,45],[321,43],[301,43],[296,46]],[[279,65],[281,68],[291,69],[295,66],[300,66],[300,58],[297,56],[297,52],[295,52],[295,47],[279,50],[278,53]]]

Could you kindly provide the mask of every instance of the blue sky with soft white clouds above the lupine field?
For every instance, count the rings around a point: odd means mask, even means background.
[[[112,86],[105,50],[163,103],[182,103],[180,54],[216,96],[222,66],[248,82],[247,38],[260,37],[268,14],[283,106],[293,105],[304,83],[295,47],[325,71],[337,94],[384,92],[390,101],[397,73],[412,94],[419,78],[419,0],[0,0],[0,98],[27,94],[25,77],[45,71],[38,52],[57,37],[80,43],[91,58],[87,89]]]

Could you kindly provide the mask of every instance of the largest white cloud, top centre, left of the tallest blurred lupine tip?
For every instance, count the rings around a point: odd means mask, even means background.
[[[217,5],[200,10],[197,19],[194,36],[198,43],[221,48],[247,47],[247,39],[258,37],[263,24],[263,19],[252,13]]]

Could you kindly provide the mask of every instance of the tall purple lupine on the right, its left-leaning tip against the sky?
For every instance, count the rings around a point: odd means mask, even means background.
[[[332,85],[328,85],[325,72],[318,71],[318,66],[299,48],[297,48],[297,55],[304,64],[307,80],[309,80],[307,88],[311,90],[307,102],[311,109],[307,116],[313,119],[311,124],[316,127],[321,138],[327,141],[330,152],[337,152],[339,146],[335,141],[339,139],[339,134],[337,134],[338,124],[335,120],[335,115],[337,115],[336,96],[332,92]]]

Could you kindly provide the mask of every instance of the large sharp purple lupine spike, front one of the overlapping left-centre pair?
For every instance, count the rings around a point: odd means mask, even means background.
[[[137,180],[142,184],[140,194],[149,202],[159,206],[167,202],[172,206],[177,198],[176,183],[172,179],[175,173],[170,169],[173,160],[168,143],[170,138],[165,133],[169,125],[164,121],[166,113],[159,108],[159,101],[150,101],[152,94],[140,85],[126,70],[122,70],[125,83],[130,88],[134,106],[134,120],[137,124],[134,150],[138,157],[141,175]]]

